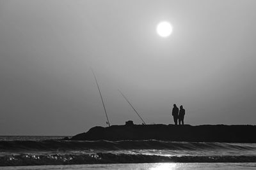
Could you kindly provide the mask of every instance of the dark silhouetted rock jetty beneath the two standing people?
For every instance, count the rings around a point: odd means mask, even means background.
[[[111,125],[93,127],[70,140],[167,140],[193,142],[256,143],[256,125]]]

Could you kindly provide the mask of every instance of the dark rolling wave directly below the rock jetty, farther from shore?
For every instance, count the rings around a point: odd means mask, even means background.
[[[0,152],[54,150],[255,150],[254,143],[143,141],[0,141]]]

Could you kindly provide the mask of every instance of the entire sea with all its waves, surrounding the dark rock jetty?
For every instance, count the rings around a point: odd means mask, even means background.
[[[0,136],[0,169],[256,169],[255,143]]]

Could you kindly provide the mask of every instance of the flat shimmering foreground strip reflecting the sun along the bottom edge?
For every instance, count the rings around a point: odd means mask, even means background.
[[[22,169],[149,169],[149,170],[191,170],[191,169],[255,169],[256,163],[148,163],[148,164],[88,164],[61,166],[11,166],[3,170]]]

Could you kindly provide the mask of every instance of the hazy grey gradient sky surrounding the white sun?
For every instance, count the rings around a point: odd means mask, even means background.
[[[74,135],[106,117],[256,120],[256,1],[0,1],[0,135]],[[156,26],[167,20],[172,35]]]

